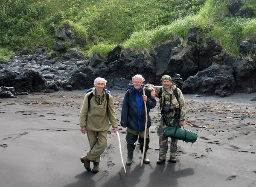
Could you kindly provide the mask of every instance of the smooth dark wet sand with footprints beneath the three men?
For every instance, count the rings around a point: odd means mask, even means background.
[[[114,94],[120,120],[125,91]],[[79,127],[85,90],[0,98],[0,186],[256,186],[256,93],[229,97],[195,97],[184,94],[187,118],[199,127],[198,141],[178,142],[177,163],[156,164],[159,103],[151,110],[150,164],[140,167],[137,144],[134,163],[120,158],[117,135],[109,129],[99,173],[87,172],[80,161],[89,150],[87,135]],[[207,127],[214,127],[207,129]],[[119,127],[122,156],[126,161],[126,129]],[[137,142],[138,143],[138,142]],[[169,159],[169,153],[167,154]],[[92,167],[92,164],[91,164]]]

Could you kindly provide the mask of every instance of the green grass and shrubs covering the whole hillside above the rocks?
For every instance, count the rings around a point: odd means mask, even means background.
[[[256,10],[253,1],[245,0],[242,8]],[[106,58],[117,44],[151,51],[177,36],[186,45],[189,28],[200,25],[198,34],[215,37],[223,53],[239,57],[239,42],[256,39],[256,19],[227,13],[225,0],[2,0],[0,48],[9,51],[5,54],[35,45],[50,50],[56,28],[68,22],[79,40],[76,48]]]

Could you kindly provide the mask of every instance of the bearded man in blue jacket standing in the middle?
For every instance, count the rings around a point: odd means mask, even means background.
[[[135,149],[135,142],[138,139],[139,135],[139,143],[140,150],[143,153],[143,144],[144,144],[144,131],[145,131],[145,105],[143,102],[146,102],[147,106],[147,130],[146,130],[146,143],[145,143],[145,153],[143,162],[145,164],[149,164],[150,161],[146,157],[148,144],[149,144],[149,127],[151,126],[151,119],[149,116],[150,109],[154,108],[157,104],[155,99],[151,98],[151,92],[145,89],[145,95],[143,95],[143,82],[145,79],[142,75],[135,75],[132,77],[132,84],[127,85],[129,88],[124,96],[123,104],[122,104],[122,113],[121,113],[121,126],[127,127],[126,130],[126,142],[127,142],[127,150],[128,156],[126,165],[131,165],[133,159],[133,153]]]

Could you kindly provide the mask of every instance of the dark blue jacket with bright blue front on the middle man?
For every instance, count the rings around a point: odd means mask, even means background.
[[[122,103],[122,113],[121,113],[121,126],[128,127],[132,130],[141,132],[145,130],[145,104],[143,102],[143,86],[140,90],[134,88],[133,84],[127,85],[129,88],[126,91],[124,100]],[[148,113],[148,123],[147,128],[151,126],[151,119],[149,116],[149,111],[157,105],[155,99],[151,98],[151,92],[145,89],[145,95],[148,97],[147,113]]]

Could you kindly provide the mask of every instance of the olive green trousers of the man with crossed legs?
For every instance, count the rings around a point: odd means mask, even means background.
[[[90,131],[87,130],[87,137],[90,144],[90,150],[87,152],[87,159],[94,162],[100,162],[100,156],[105,151],[108,143],[108,131]]]

